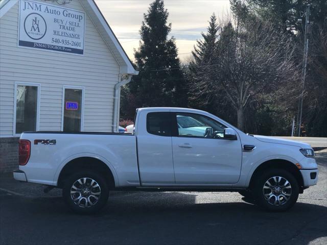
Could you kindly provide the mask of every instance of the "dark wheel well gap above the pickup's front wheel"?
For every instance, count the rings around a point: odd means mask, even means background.
[[[260,175],[262,171],[270,168],[280,168],[289,171],[295,177],[298,186],[300,188],[300,193],[303,192],[303,178],[300,173],[300,170],[297,168],[297,166],[294,163],[285,159],[271,159],[257,166],[251,175],[250,182],[248,185],[249,188],[250,189],[253,188],[256,177]]]

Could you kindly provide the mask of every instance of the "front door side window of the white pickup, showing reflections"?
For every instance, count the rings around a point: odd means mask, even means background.
[[[223,138],[226,128],[220,122],[194,113],[176,113],[178,136]]]

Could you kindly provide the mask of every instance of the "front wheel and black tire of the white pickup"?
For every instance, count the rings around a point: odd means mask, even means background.
[[[278,212],[292,208],[297,201],[298,194],[299,187],[295,177],[284,169],[265,170],[257,176],[253,187],[256,203],[268,211]]]

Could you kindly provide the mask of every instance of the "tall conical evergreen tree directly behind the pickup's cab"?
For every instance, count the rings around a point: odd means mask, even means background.
[[[184,77],[177,57],[174,37],[169,38],[171,23],[164,1],[155,0],[144,14],[141,41],[134,51],[138,76],[128,84],[134,108],[149,106],[185,107]],[[126,103],[123,103],[126,104]],[[124,109],[124,108],[123,108]],[[129,115],[128,117],[131,117]]]

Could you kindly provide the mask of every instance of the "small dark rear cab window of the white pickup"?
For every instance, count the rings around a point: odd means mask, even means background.
[[[150,112],[147,114],[147,131],[149,134],[171,136],[170,112]]]

